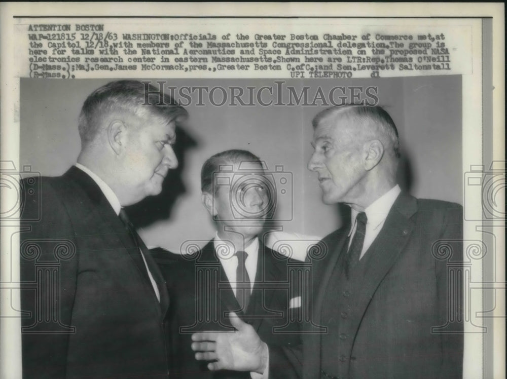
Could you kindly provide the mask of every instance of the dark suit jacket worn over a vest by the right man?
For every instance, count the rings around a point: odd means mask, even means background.
[[[461,377],[462,295],[453,292],[461,283],[448,270],[462,267],[462,219],[457,204],[406,194],[396,199],[380,234],[361,258],[368,259],[358,274],[362,280],[355,288],[331,288],[336,299],[350,299],[350,307],[336,309],[335,314],[341,327],[333,336],[339,377]],[[349,230],[350,224],[325,237],[321,246],[327,247],[327,255],[312,261],[312,320],[321,326],[327,326],[322,325],[322,308],[331,300],[326,295],[329,283],[336,282],[334,275],[343,275],[342,248]],[[443,259],[436,258],[439,254]],[[445,333],[432,332],[439,326],[445,326]],[[304,378],[321,377],[323,335],[302,338],[301,349],[270,352],[271,362],[285,355],[295,366],[303,363]]]

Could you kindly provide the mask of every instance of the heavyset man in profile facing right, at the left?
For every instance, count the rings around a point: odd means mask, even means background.
[[[168,375],[166,284],[123,210],[159,194],[177,166],[171,144],[186,111],[162,96],[137,81],[94,91],[76,165],[31,185],[41,202],[21,220],[25,378]]]

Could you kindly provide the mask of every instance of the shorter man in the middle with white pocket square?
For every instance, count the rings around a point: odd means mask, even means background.
[[[171,336],[179,337],[173,339],[171,356],[181,377],[250,377],[248,372],[209,371],[191,349],[194,332],[234,331],[230,312],[270,345],[300,343],[298,324],[289,323],[298,297],[289,292],[287,258],[260,240],[272,208],[266,180],[261,161],[246,150],[223,151],[203,165],[202,203],[216,225],[215,238],[179,263],[162,265],[175,311]],[[279,365],[282,377],[295,375],[288,362]]]

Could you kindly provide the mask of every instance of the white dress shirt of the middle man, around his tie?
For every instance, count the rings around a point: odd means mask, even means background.
[[[222,267],[227,275],[227,279],[231,284],[234,296],[236,296],[236,270],[238,268],[238,257],[236,256],[236,250],[232,243],[226,240],[222,240],[219,234],[215,234],[213,240],[213,246],[215,248],[216,256],[219,258]],[[240,250],[241,251],[241,250]],[[255,284],[255,276],[257,274],[257,258],[259,256],[259,239],[255,238],[244,250],[248,254],[245,259],[245,269],[250,278],[250,293],[253,290],[253,284]]]

